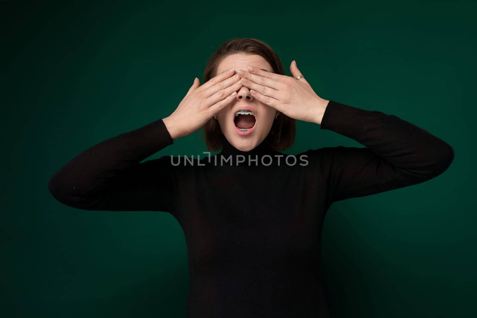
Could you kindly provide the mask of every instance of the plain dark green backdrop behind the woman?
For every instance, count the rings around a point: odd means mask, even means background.
[[[183,317],[189,274],[168,213],[74,209],[52,174],[109,137],[164,118],[233,37],[296,60],[325,99],[394,114],[455,150],[440,176],[332,205],[322,276],[333,317],[476,317],[477,6],[2,2],[3,317]],[[360,146],[300,122],[296,154]],[[201,154],[198,133],[156,153]]]

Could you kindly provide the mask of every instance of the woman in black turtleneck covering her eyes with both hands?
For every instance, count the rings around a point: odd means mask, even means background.
[[[330,205],[432,179],[454,151],[394,115],[322,99],[295,62],[290,71],[262,41],[223,43],[174,113],[77,155],[50,192],[85,210],[174,215],[187,242],[187,317],[329,317],[319,256]],[[285,156],[295,120],[365,147]],[[200,127],[219,154],[140,163]]]

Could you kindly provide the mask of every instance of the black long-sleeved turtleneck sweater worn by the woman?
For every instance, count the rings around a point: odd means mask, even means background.
[[[187,242],[187,317],[329,317],[319,268],[330,205],[432,179],[454,151],[394,115],[333,101],[321,129],[365,147],[311,149],[293,164],[270,149],[269,138],[242,152],[222,137],[210,162],[202,154],[193,164],[181,156],[176,165],[179,158],[169,155],[141,163],[173,143],[159,119],[86,149],[48,188],[79,209],[174,215]],[[220,156],[230,155],[233,165],[220,165]],[[258,160],[249,165],[249,155]]]

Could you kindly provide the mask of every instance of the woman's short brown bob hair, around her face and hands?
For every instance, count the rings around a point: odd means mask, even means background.
[[[203,82],[217,76],[217,67],[224,58],[237,53],[260,55],[269,62],[272,72],[286,75],[280,58],[267,43],[253,38],[233,38],[222,43],[209,58],[203,73]],[[220,150],[223,133],[218,121],[212,117],[202,128],[207,149],[210,151]],[[273,121],[269,135],[272,149],[281,151],[290,148],[295,141],[296,120],[280,113]]]

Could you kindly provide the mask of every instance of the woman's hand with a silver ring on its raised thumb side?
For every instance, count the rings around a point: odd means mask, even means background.
[[[303,77],[296,79],[301,72],[295,61],[290,65],[293,77],[262,71],[258,67],[254,72],[252,70],[250,66],[248,72],[244,70],[241,81],[259,102],[291,118],[321,124],[329,101],[319,97]]]

